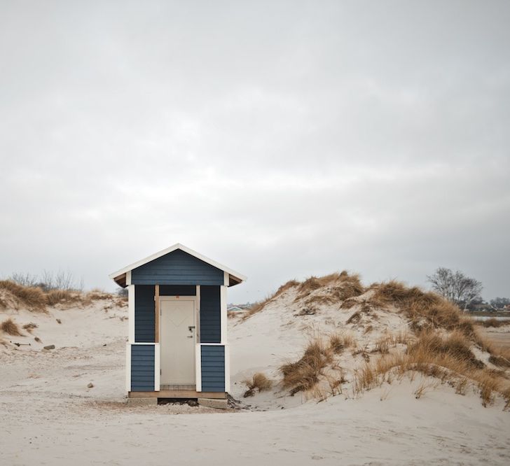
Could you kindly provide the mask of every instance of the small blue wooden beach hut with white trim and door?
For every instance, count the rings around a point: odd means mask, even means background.
[[[226,291],[246,277],[179,243],[109,277],[128,290],[128,397],[226,400]]]

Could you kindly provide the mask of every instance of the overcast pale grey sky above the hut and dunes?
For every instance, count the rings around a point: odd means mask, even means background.
[[[436,267],[510,295],[510,2],[0,1],[0,276],[184,243],[229,301]]]

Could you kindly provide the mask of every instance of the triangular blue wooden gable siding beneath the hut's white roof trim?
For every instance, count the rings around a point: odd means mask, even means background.
[[[177,249],[131,271],[133,285],[223,285],[223,271]]]

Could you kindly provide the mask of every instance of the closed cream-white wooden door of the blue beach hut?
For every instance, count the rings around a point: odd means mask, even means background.
[[[195,384],[195,302],[160,301],[160,385]]]

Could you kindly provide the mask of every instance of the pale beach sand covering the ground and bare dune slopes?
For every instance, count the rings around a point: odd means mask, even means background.
[[[358,399],[303,403],[277,390],[276,399],[273,393],[247,399],[268,411],[128,406],[127,320],[121,320],[127,310],[105,312],[105,304],[48,315],[6,311],[39,327],[30,337],[4,336],[32,346],[0,346],[0,465],[510,464],[510,413],[502,400],[484,408],[472,390],[455,395],[420,376]],[[256,370],[276,376],[284,358],[300,353],[308,325],[321,321],[305,316],[289,323],[276,307],[230,327],[236,396],[244,376]],[[394,316],[385,319],[398,329]],[[34,336],[55,350],[41,351]],[[416,400],[421,383],[429,388]]]

